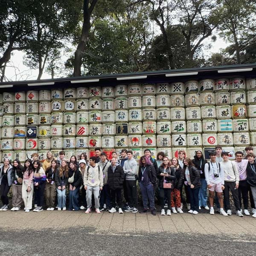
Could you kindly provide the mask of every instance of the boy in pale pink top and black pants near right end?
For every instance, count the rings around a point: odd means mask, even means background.
[[[240,207],[242,207],[242,199],[243,198],[243,204],[244,204],[244,214],[245,215],[250,215],[250,212],[248,211],[248,192],[249,192],[249,187],[247,184],[247,164],[248,160],[243,159],[243,152],[237,151],[236,152],[236,167],[239,172],[239,187],[238,187],[238,195],[239,195],[239,202],[240,202]]]

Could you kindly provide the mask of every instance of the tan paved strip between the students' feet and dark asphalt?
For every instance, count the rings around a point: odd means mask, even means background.
[[[0,229],[2,230],[62,230],[69,227],[93,228],[94,233],[111,234],[139,234],[140,233],[198,233],[225,235],[256,235],[256,218],[236,215],[224,217],[218,213],[189,213],[156,216],[149,212],[136,214],[131,212],[85,214],[84,211],[42,211],[27,212],[0,212]]]

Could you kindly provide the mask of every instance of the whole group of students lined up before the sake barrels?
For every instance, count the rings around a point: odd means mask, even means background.
[[[65,152],[60,151],[57,160],[51,151],[41,166],[38,154],[27,159],[24,167],[19,160],[6,158],[0,168],[0,195],[3,207],[9,209],[8,192],[12,186],[12,209],[18,211],[24,202],[25,212],[32,209],[34,194],[34,212],[44,208],[47,210],[66,210],[66,192],[69,194],[68,210],[85,210],[88,214],[95,208],[96,213],[106,210],[110,213],[136,213],[138,196],[137,181],[143,201],[140,213],[150,211],[156,215],[155,198],[160,199],[161,215],[183,213],[183,205],[189,213],[198,214],[201,207],[214,214],[214,201],[217,211],[227,216],[232,214],[230,207],[230,191],[233,196],[236,215],[250,215],[248,210],[248,193],[253,217],[256,217],[256,162],[253,148],[247,147],[246,159],[241,151],[236,152],[236,160],[230,161],[229,153],[216,146],[209,152],[210,161],[204,159],[202,151],[196,151],[191,160],[186,152],[180,150],[179,157],[169,159],[163,152],[157,159],[151,157],[151,151],[145,149],[140,157],[139,169],[133,152],[122,149],[121,160],[113,152],[111,159],[95,148],[95,156],[87,160],[82,153],[79,162],[76,156],[65,159]],[[183,198],[183,188],[186,199]],[[209,206],[207,205],[207,188],[209,190]],[[57,191],[57,203],[55,196]],[[35,192],[35,193],[33,193]],[[123,197],[122,197],[123,194]],[[223,200],[224,194],[224,200]],[[167,207],[167,211],[165,208]]]

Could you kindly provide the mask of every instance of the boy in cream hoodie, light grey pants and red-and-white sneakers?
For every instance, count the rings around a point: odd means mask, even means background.
[[[95,163],[96,157],[90,157],[89,166],[84,171],[84,189],[86,190],[87,210],[85,213],[91,212],[92,194],[94,195],[95,212],[99,210],[99,191],[103,187],[103,172],[102,168]]]

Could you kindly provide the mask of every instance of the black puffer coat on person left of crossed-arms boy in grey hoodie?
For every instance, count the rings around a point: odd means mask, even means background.
[[[121,189],[125,180],[125,173],[122,166],[116,166],[113,172],[112,165],[108,167],[108,186],[110,189]]]

